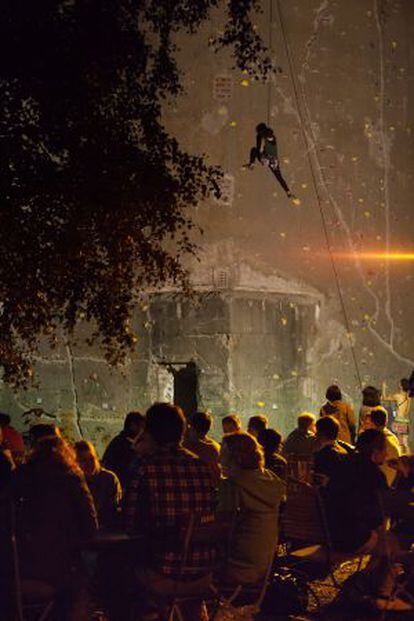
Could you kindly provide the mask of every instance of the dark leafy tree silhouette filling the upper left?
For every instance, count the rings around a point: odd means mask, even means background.
[[[108,362],[136,337],[146,287],[188,289],[191,207],[220,171],[161,121],[181,90],[174,36],[219,5],[235,65],[265,77],[256,0],[3,0],[0,8],[0,364],[25,385],[46,335],[96,326]],[[168,242],[168,243],[167,243]]]

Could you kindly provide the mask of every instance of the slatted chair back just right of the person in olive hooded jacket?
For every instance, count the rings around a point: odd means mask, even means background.
[[[315,486],[299,479],[288,479],[281,526],[287,541],[329,545],[323,505]]]

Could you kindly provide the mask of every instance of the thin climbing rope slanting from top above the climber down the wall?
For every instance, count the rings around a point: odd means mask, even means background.
[[[292,81],[293,92],[294,92],[294,96],[295,96],[295,100],[296,100],[296,109],[297,109],[299,120],[300,120],[302,138],[303,138],[303,141],[304,141],[304,144],[305,144],[306,154],[307,154],[308,161],[309,161],[309,168],[310,168],[311,176],[312,176],[312,183],[313,183],[313,186],[314,186],[314,189],[315,189],[316,200],[317,200],[319,212],[320,212],[320,215],[321,215],[322,229],[323,229],[324,236],[325,236],[326,248],[328,250],[328,254],[329,254],[329,258],[330,258],[330,263],[331,263],[331,267],[332,267],[332,272],[333,272],[333,275],[334,275],[334,278],[335,278],[336,289],[337,289],[337,292],[338,292],[338,298],[339,298],[339,301],[340,301],[342,314],[344,316],[345,328],[346,328],[346,331],[347,331],[347,337],[348,337],[349,347],[350,347],[350,350],[351,350],[352,360],[353,360],[354,366],[355,366],[356,377],[358,379],[359,386],[362,389],[362,378],[361,378],[361,374],[359,372],[359,367],[358,367],[358,361],[357,361],[357,357],[356,357],[356,353],[355,353],[355,348],[354,348],[354,345],[352,343],[352,335],[351,335],[350,322],[349,322],[348,314],[347,314],[347,311],[346,311],[345,300],[344,300],[344,295],[342,293],[341,282],[340,282],[340,279],[339,279],[338,270],[336,268],[335,259],[334,259],[333,253],[332,253],[331,243],[330,243],[330,240],[329,240],[328,226],[327,226],[327,223],[326,223],[325,213],[324,213],[323,207],[322,207],[322,201],[321,201],[321,196],[320,196],[319,189],[318,189],[318,183],[317,183],[317,179],[316,179],[314,165],[313,165],[313,162],[312,162],[311,145],[309,144],[308,137],[307,137],[306,131],[304,129],[305,128],[305,124],[304,124],[305,123],[305,119],[303,118],[303,115],[302,115],[302,110],[301,110],[301,105],[300,105],[300,98],[299,98],[298,88],[297,88],[296,80],[295,80],[295,67],[294,67],[294,63],[293,63],[293,57],[292,57],[292,54],[291,54],[289,42],[288,42],[287,35],[286,35],[286,29],[285,29],[285,25],[284,25],[282,10],[280,8],[280,0],[275,0],[275,1],[276,1],[277,13],[278,13],[278,17],[279,17],[280,30],[281,30],[281,34],[282,34],[282,38],[283,38],[283,43],[284,43],[284,47],[285,47],[285,52],[286,52],[286,57],[287,57],[287,60],[288,60],[288,65],[289,65],[289,72],[290,72],[290,77],[291,77],[291,81]],[[269,0],[269,2],[270,2],[269,16],[272,19],[273,18],[273,0]],[[271,32],[272,32],[271,29],[272,29],[272,24],[270,23],[270,26],[269,26],[269,33],[270,33],[269,47],[270,47],[270,49],[271,49]],[[269,82],[269,84],[270,84],[270,82]],[[269,86],[269,97],[268,97],[268,119],[269,119],[269,116],[270,116],[270,86]]]

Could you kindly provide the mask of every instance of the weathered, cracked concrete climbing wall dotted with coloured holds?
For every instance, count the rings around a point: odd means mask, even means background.
[[[287,430],[297,408],[316,411],[332,381],[358,404],[350,343],[364,383],[395,384],[414,366],[412,263],[358,258],[367,250],[413,249],[414,3],[279,4],[286,40],[272,0],[271,43],[282,72],[270,85],[232,71],[227,54],[208,48],[219,11],[198,35],[179,41],[186,93],[166,109],[166,123],[185,147],[226,172],[221,201],[194,214],[207,253],[194,282],[216,293],[201,308],[165,293],[138,309],[140,341],[123,375],[81,344],[44,352],[38,390],[0,391],[0,407],[16,420],[44,407],[60,413],[74,435],[80,419],[104,444],[125,411],[171,393],[157,360],[197,355],[203,406],[218,414],[265,411]],[[270,0],[262,5],[257,26],[268,37]],[[242,168],[254,127],[268,114],[300,206],[261,166]],[[320,208],[333,250],[351,255],[336,262],[351,334]]]

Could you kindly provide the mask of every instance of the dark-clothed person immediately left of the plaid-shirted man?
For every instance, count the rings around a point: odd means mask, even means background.
[[[115,472],[123,490],[129,481],[131,466],[137,455],[136,443],[143,432],[144,422],[140,412],[129,412],[123,430],[111,440],[102,458],[102,464]]]

